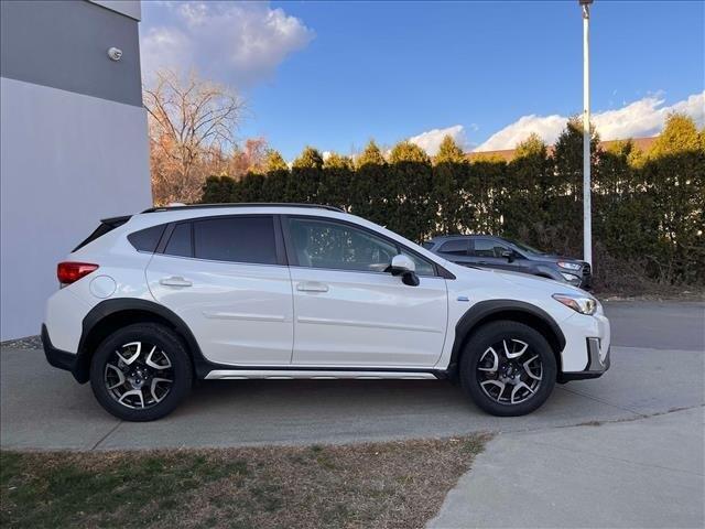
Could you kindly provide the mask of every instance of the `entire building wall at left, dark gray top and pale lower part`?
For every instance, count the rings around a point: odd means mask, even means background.
[[[134,3],[139,15],[139,2],[120,2]],[[100,218],[152,198],[138,20],[84,0],[0,9],[4,341],[39,333],[56,263]],[[108,58],[111,46],[121,61]]]

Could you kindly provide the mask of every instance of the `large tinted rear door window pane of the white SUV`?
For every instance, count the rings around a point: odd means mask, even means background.
[[[237,216],[195,220],[195,257],[214,261],[276,264],[271,216]]]

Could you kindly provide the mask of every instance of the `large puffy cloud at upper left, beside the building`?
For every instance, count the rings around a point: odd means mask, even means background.
[[[154,9],[163,10],[163,23],[142,36],[145,78],[163,67],[195,67],[207,77],[251,86],[314,37],[300,19],[268,2],[164,2]]]

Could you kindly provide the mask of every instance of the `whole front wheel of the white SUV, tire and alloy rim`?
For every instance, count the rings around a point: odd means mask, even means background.
[[[494,415],[513,417],[541,407],[555,386],[556,360],[546,338],[519,322],[480,327],[465,346],[460,385]]]

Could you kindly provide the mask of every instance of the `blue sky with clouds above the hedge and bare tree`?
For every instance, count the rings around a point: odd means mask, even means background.
[[[657,133],[668,111],[705,120],[699,1],[596,0],[593,110],[605,138]],[[576,0],[513,2],[144,2],[145,79],[195,66],[236,87],[291,160],[306,144],[349,153],[370,139],[446,132],[468,150],[553,141],[582,110]],[[447,129],[447,130],[446,130]],[[425,133],[425,134],[424,134]]]

